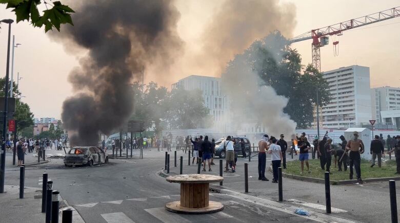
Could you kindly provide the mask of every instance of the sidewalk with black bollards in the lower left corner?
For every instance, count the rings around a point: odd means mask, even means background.
[[[45,222],[46,213],[42,213],[42,188],[25,187],[23,199],[19,199],[19,186],[5,185],[4,191],[5,193],[0,193],[1,222]],[[62,210],[65,207],[66,203],[61,199],[58,222],[62,222]],[[84,222],[75,209],[72,215],[73,222]]]

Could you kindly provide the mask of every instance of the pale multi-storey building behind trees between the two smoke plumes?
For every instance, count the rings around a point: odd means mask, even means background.
[[[204,105],[210,109],[210,115],[214,117],[214,121],[220,121],[228,110],[228,100],[221,93],[220,81],[221,78],[217,77],[191,75],[172,84],[172,90],[201,90]]]

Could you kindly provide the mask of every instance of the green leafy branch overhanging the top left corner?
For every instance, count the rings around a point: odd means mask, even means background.
[[[46,10],[43,15],[39,13],[37,6],[42,4],[41,0],[0,0],[0,4],[7,4],[7,9],[12,8],[16,15],[16,22],[30,21],[34,27],[45,26],[45,32],[52,30],[53,27],[59,32],[61,24],[73,26],[71,13],[74,13],[69,6],[56,1],[53,4],[44,1]],[[48,8],[52,6],[52,8]]]

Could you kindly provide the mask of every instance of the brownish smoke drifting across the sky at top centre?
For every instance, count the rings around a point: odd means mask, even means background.
[[[254,40],[262,39],[274,30],[291,36],[296,25],[295,14],[293,4],[278,0],[225,1],[217,8],[198,40],[201,50],[186,54],[184,65],[190,64],[186,71],[219,76],[227,63]]]

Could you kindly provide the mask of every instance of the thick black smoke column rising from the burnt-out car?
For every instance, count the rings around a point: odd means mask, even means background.
[[[173,63],[182,44],[179,12],[162,0],[85,0],[76,7],[74,26],[52,35],[68,48],[87,50],[70,73],[76,94],[64,101],[62,119],[71,144],[96,145],[99,132],[109,135],[131,116],[130,82],[143,65]]]

